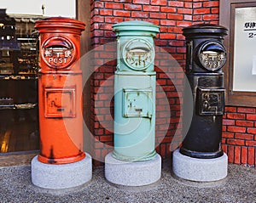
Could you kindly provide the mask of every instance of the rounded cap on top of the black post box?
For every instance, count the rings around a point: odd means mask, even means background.
[[[185,37],[189,35],[220,35],[224,36],[228,34],[228,29],[221,25],[213,24],[197,24],[183,28],[183,35]]]

